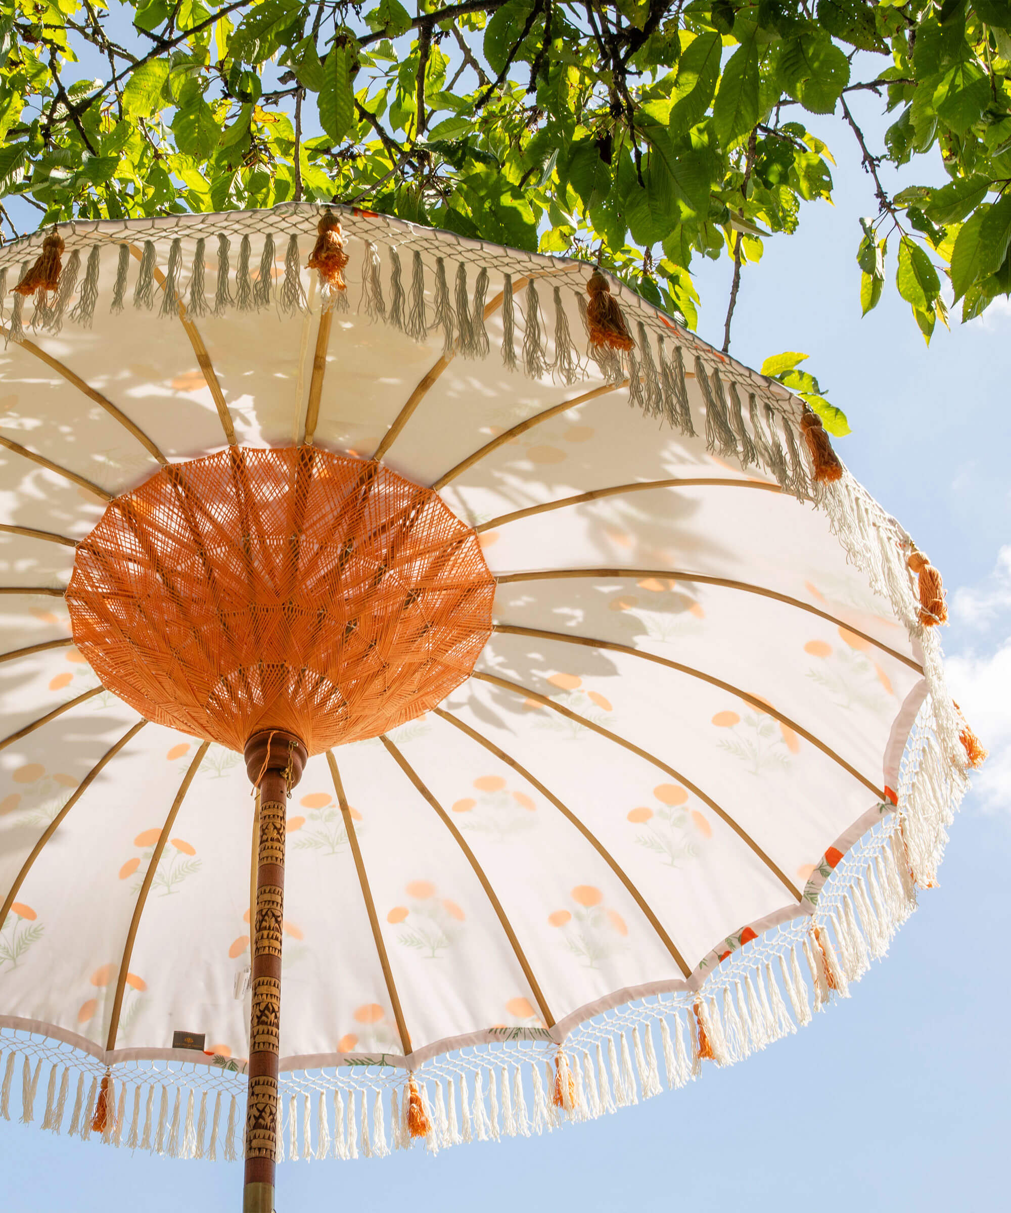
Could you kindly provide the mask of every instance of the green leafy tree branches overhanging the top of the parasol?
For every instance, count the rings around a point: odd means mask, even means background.
[[[351,203],[600,257],[694,324],[693,258],[733,258],[735,297],[830,199],[807,121],[835,113],[879,205],[861,306],[891,244],[930,340],[948,280],[964,318],[1011,291],[1009,72],[1011,0],[0,0],[0,194],[42,223]],[[943,186],[880,181],[938,154]]]

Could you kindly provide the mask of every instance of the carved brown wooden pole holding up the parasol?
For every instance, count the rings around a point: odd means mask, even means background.
[[[260,788],[256,907],[252,916],[252,1010],[245,1118],[243,1213],[273,1213],[280,1050],[280,946],[284,919],[284,831],[288,796],[302,778],[306,747],[291,733],[257,733],[245,747]]]

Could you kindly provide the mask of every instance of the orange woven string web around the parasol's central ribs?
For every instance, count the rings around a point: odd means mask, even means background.
[[[477,536],[431,489],[312,446],[232,448],[117,497],[74,560],[74,640],[148,719],[309,753],[443,700],[492,632]]]

